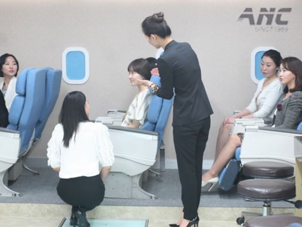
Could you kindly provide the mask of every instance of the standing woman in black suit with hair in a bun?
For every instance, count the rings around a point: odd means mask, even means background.
[[[199,61],[188,43],[171,38],[163,13],[147,17],[142,28],[148,42],[155,48],[162,47],[164,52],[157,59],[161,87],[148,80],[141,83],[163,99],[172,99],[175,91],[172,126],[183,213],[170,226],[198,226],[203,153],[213,113],[201,80]]]

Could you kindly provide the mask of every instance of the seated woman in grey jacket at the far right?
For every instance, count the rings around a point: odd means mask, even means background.
[[[274,121],[267,126],[296,129],[302,121],[302,61],[296,57],[282,59],[279,77],[281,83],[285,85],[284,93],[274,111],[276,115]],[[242,133],[230,136],[211,169],[203,174],[202,186],[209,183],[213,186],[218,182],[219,172],[234,156],[236,148],[241,146],[243,137]]]

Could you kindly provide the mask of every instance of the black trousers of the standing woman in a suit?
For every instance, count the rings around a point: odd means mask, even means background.
[[[192,124],[173,127],[173,139],[181,183],[184,218],[191,220],[198,213],[201,195],[203,153],[208,141],[210,116]]]

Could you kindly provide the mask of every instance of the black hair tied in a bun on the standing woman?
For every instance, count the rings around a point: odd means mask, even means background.
[[[171,36],[171,28],[163,18],[163,13],[154,13],[142,22],[143,33],[150,37],[152,34],[161,38]]]

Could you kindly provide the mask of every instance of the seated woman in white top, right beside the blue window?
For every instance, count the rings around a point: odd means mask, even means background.
[[[214,161],[230,138],[235,118],[263,118],[266,124],[271,123],[273,111],[284,88],[277,75],[281,59],[277,50],[263,53],[260,69],[264,78],[259,82],[250,105],[232,117],[224,119],[217,136]]]

